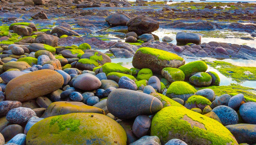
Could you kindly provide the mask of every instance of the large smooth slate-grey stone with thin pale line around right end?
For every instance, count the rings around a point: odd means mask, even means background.
[[[145,93],[115,89],[108,95],[107,108],[114,116],[129,119],[154,114],[163,108],[163,104],[159,99]]]

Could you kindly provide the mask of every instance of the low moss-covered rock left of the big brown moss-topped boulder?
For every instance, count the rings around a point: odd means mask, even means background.
[[[103,73],[106,73],[106,75],[108,75],[108,73],[112,73],[112,72],[124,73],[127,75],[131,75],[131,70],[129,70],[128,68],[125,68],[119,64],[112,63],[112,62],[105,63],[102,66],[102,71],[103,71]]]

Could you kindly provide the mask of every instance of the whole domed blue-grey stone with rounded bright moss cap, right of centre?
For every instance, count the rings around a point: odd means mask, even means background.
[[[186,101],[193,96],[197,90],[184,81],[175,81],[169,85],[166,96],[169,98],[180,98]]]

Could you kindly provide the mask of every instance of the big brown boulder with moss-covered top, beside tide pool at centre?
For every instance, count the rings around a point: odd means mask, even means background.
[[[134,54],[132,64],[135,68],[149,68],[153,73],[161,74],[163,68],[178,68],[185,64],[185,60],[164,50],[142,47]]]

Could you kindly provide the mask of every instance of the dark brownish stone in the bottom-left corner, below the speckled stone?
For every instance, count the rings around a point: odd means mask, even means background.
[[[18,135],[19,133],[23,133],[24,129],[22,126],[18,124],[12,124],[7,127],[5,127],[1,134],[4,136],[4,141],[10,141],[15,135]]]

